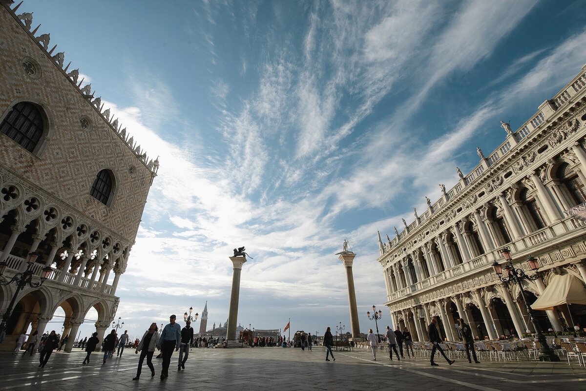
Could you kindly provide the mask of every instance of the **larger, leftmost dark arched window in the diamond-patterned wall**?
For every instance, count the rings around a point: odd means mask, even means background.
[[[34,152],[44,129],[40,109],[30,102],[15,104],[0,124],[0,132],[15,140],[29,152]]]

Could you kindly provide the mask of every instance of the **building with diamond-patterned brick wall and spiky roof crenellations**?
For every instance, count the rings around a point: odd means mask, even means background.
[[[33,282],[43,267],[53,270],[41,287],[16,296],[0,348],[13,349],[14,336],[31,326],[42,334],[63,325],[70,351],[90,308],[100,339],[114,318],[158,160],[147,158],[91,85],[82,87],[79,70],[35,28],[32,12],[11,3],[0,1],[2,278],[25,270],[33,251],[40,253]],[[2,313],[15,289],[0,286]],[[53,317],[59,307],[64,319]]]

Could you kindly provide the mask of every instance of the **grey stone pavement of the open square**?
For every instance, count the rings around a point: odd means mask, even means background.
[[[156,376],[146,362],[142,377],[133,381],[138,355],[125,349],[121,358],[103,365],[94,352],[89,365],[85,353],[53,352],[44,369],[39,354],[0,353],[2,390],[586,390],[586,369],[574,360],[469,364],[456,359],[449,366],[443,358],[431,367],[424,358],[388,360],[383,352],[372,360],[369,351],[335,352],[336,361],[325,361],[321,347],[313,351],[292,348],[243,348],[191,350],[185,371],[177,371],[173,352],[169,378],[161,380],[161,359],[153,358]]]

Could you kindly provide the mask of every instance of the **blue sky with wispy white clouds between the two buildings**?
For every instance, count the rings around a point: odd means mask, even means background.
[[[206,300],[208,325],[223,323],[242,245],[254,259],[239,323],[291,317],[322,334],[349,324],[342,241],[367,331],[385,300],[377,229],[392,238],[456,166],[479,163],[476,146],[503,142],[500,120],[517,129],[578,73],[584,5],[27,0],[19,12],[160,155],[117,291],[131,334]]]

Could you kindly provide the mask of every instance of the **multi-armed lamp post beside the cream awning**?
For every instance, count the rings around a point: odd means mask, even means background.
[[[527,259],[527,265],[529,265],[529,268],[532,269],[533,272],[535,272],[533,275],[528,276],[525,274],[525,272],[523,272],[523,269],[521,269],[520,267],[517,269],[515,268],[515,266],[513,265],[513,258],[511,257],[511,252],[508,248],[503,248],[500,251],[500,253],[503,255],[503,258],[505,258],[505,264],[500,265],[495,260],[495,262],[492,264],[492,267],[495,270],[496,275],[503,283],[506,284],[507,287],[509,282],[512,282],[513,284],[516,283],[519,286],[519,290],[521,291],[523,301],[525,302],[525,306],[527,307],[527,313],[529,313],[529,318],[537,334],[536,339],[541,344],[541,349],[539,349],[539,360],[560,361],[560,358],[547,344],[546,337],[541,332],[541,327],[539,326],[539,323],[537,323],[536,321],[533,308],[531,308],[529,303],[527,303],[527,297],[525,295],[525,290],[523,289],[523,280],[534,281],[539,278],[539,263],[537,262],[537,259],[533,257]]]

